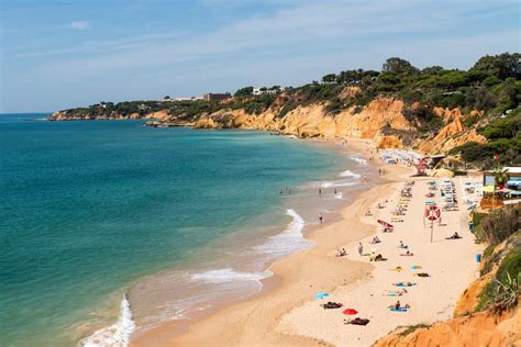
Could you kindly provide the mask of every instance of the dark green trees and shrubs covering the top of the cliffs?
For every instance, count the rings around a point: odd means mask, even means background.
[[[271,110],[282,117],[301,105],[323,104],[329,116],[351,109],[353,113],[376,98],[403,100],[403,115],[414,124],[422,138],[436,134],[444,120],[434,113],[435,107],[459,108],[466,128],[476,128],[488,142],[467,143],[454,148],[465,161],[489,167],[491,159],[500,164],[521,164],[520,99],[521,54],[503,53],[479,58],[468,70],[445,69],[441,66],[417,68],[411,63],[392,57],[380,71],[353,69],[328,74],[321,82],[286,88],[262,88],[269,91],[253,94],[253,87],[239,89],[223,101],[129,101],[100,103],[89,108],[63,111],[65,119],[143,116],[166,110],[173,119],[193,122],[219,110],[242,109],[248,114]],[[473,112],[479,110],[481,112]],[[65,114],[65,116],[64,116]]]

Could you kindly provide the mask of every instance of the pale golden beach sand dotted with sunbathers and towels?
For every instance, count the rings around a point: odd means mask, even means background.
[[[368,143],[353,141],[348,147],[369,156]],[[381,234],[376,220],[390,222],[390,210],[396,206],[404,181],[415,171],[402,166],[386,166],[386,169],[387,181],[361,193],[342,210],[340,221],[306,235],[314,243],[312,247],[270,268],[276,278],[268,281],[276,281],[275,286],[195,322],[186,333],[179,334],[175,322],[165,323],[135,337],[131,346],[368,346],[400,325],[451,317],[458,295],[477,277],[475,255],[481,250],[466,227],[463,199],[458,212],[443,213],[446,225],[435,226],[431,244],[430,228],[423,226],[422,217],[429,179],[414,179],[413,198],[403,222],[395,223],[393,233]],[[454,181],[461,197],[462,188],[457,179]],[[386,200],[390,202],[385,203]],[[378,203],[386,208],[377,209]],[[375,215],[365,216],[368,209]],[[463,238],[446,240],[454,231]],[[368,240],[376,232],[381,243],[375,248],[388,260],[375,264],[358,255],[357,245],[362,240],[368,251],[373,248]],[[414,256],[400,256],[400,240],[411,247]],[[347,256],[335,257],[336,249],[342,247]],[[417,272],[428,272],[431,277],[413,276],[412,265],[422,266]],[[404,270],[390,270],[397,266]],[[391,283],[398,281],[418,283],[399,298],[402,304],[411,305],[407,313],[387,309],[397,298],[385,293],[397,290]],[[318,292],[329,292],[331,296],[312,299]],[[344,318],[352,316],[343,315],[343,309],[323,310],[320,304],[328,301],[356,309],[359,313],[355,316],[369,318],[370,323],[344,325]]]

